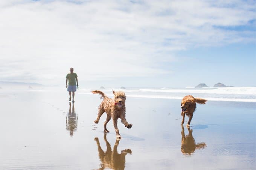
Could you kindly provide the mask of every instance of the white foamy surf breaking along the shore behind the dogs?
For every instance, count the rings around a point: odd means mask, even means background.
[[[103,91],[107,96],[113,96],[112,89],[104,89]],[[182,99],[185,95],[196,93],[196,97],[209,101],[256,102],[256,87],[207,87],[203,89],[131,88],[123,89],[123,91],[126,96],[136,98]],[[89,89],[84,89],[81,94],[91,95],[92,93]]]

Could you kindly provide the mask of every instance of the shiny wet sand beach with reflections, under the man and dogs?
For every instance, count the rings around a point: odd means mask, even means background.
[[[1,92],[0,169],[255,169],[256,104],[197,105],[189,129],[180,100],[127,98],[127,129],[94,124],[99,95]],[[186,123],[186,122],[185,122]],[[184,124],[185,124],[184,123]]]

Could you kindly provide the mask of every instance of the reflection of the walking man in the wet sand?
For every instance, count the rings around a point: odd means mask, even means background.
[[[75,113],[74,103],[72,104],[71,111],[71,103],[69,103],[69,113],[66,115],[66,129],[70,134],[70,137],[73,137],[74,132],[77,129],[78,116]]]

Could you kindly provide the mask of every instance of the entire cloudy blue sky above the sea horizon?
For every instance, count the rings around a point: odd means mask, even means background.
[[[0,2],[0,80],[256,86],[255,1]]]

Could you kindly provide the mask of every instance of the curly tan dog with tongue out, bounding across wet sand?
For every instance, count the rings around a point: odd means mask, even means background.
[[[122,91],[115,92],[113,90],[114,99],[108,98],[103,92],[99,90],[94,90],[92,93],[98,93],[101,95],[101,99],[103,98],[103,101],[99,105],[99,111],[97,119],[94,120],[94,123],[99,123],[99,118],[101,115],[106,112],[107,113],[107,119],[104,122],[104,132],[109,132],[107,129],[107,123],[110,121],[111,117],[113,119],[114,128],[116,131],[116,138],[120,139],[121,136],[119,134],[119,130],[117,128],[117,119],[120,118],[122,120],[122,123],[127,127],[128,129],[133,126],[132,124],[129,124],[125,119],[125,100],[126,96],[125,93]]]

